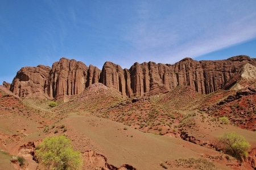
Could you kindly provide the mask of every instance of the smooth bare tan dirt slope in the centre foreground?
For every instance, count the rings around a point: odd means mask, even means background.
[[[118,122],[98,117],[72,116],[62,121],[67,125],[67,135],[75,134],[73,142],[80,150],[96,150],[106,155],[108,163],[120,167],[131,164],[137,169],[163,169],[160,163],[179,158],[202,158],[203,155],[221,156],[216,152],[174,137],[160,136],[130,128]],[[85,135],[88,140],[79,141]],[[84,144],[82,144],[82,143]],[[81,145],[84,148],[81,148]],[[232,162],[233,164],[236,162]],[[231,163],[231,164],[232,164]],[[218,169],[230,169],[214,162]]]

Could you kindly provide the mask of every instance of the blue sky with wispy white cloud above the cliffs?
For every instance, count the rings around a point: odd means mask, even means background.
[[[0,25],[0,83],[61,57],[99,69],[256,57],[255,0],[1,0]]]

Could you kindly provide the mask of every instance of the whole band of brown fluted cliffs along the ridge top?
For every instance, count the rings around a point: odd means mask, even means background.
[[[130,69],[106,62],[101,71],[75,59],[61,58],[53,63],[52,68],[42,65],[23,67],[11,83],[10,90],[20,97],[36,94],[52,99],[81,94],[91,84],[102,83],[124,97],[163,94],[177,86],[190,86],[201,94],[209,94],[236,84],[245,73],[246,64],[256,66],[256,59],[249,56],[218,61],[184,58],[174,65],[136,62]]]

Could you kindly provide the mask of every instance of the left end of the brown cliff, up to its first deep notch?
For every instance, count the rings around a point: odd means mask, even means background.
[[[10,90],[20,97],[44,96],[49,99],[80,94],[98,82],[101,71],[75,59],[61,58],[52,68],[39,65],[23,67],[16,74]]]

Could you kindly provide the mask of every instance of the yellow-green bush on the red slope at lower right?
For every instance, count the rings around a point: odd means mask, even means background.
[[[219,139],[220,143],[224,145],[227,154],[234,156],[238,160],[242,160],[243,157],[247,156],[250,143],[242,135],[232,131],[222,134]]]

